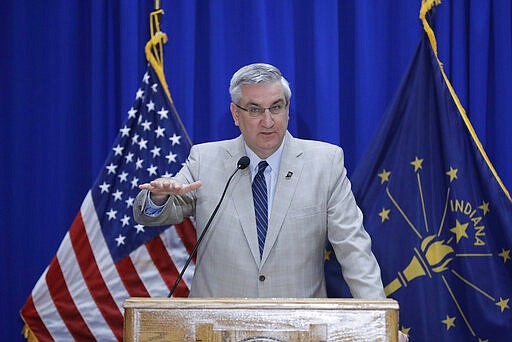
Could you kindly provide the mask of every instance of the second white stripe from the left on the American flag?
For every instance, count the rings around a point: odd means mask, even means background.
[[[59,260],[62,274],[73,302],[92,334],[96,338],[101,337],[102,340],[116,340],[110,326],[96,305],[89,288],[85,284],[85,279],[80,271],[80,265],[71,244],[69,232],[64,237],[57,251],[57,259]]]

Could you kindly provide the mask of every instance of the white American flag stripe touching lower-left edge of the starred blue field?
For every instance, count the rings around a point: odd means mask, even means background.
[[[82,213],[85,231],[89,238],[89,244],[91,245],[94,259],[96,260],[101,276],[110,291],[110,295],[114,298],[119,311],[124,314],[123,303],[130,295],[124,287],[119,273],[117,272],[117,268],[114,265],[114,260],[109,253],[107,243],[101,232],[98,215],[94,208],[90,190],[85,196],[80,211]]]

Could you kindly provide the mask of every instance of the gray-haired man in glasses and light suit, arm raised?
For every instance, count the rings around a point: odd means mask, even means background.
[[[140,185],[134,205],[143,225],[194,216],[199,236],[238,160],[250,158],[198,249],[190,296],[326,297],[328,239],[353,297],[385,298],[342,149],[287,131],[291,90],[274,66],[241,68],[229,91],[242,134],[193,146],[175,177]]]

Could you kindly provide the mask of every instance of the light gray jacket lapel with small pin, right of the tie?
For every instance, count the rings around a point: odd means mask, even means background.
[[[283,222],[292,202],[297,183],[304,167],[304,160],[301,158],[302,150],[297,146],[290,133],[286,134],[279,175],[277,176],[276,192],[272,203],[272,213],[265,239],[265,248],[260,267],[264,264],[270,250],[273,248]],[[253,205],[254,207],[254,205]],[[252,209],[252,220],[255,226],[254,209]],[[254,228],[256,229],[256,228]],[[257,246],[257,242],[256,242]],[[258,252],[259,253],[259,252]]]

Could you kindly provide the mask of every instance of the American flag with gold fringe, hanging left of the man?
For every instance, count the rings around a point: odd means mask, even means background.
[[[39,341],[122,340],[128,297],[165,297],[191,253],[189,220],[137,224],[138,185],[172,176],[190,143],[151,65],[99,177],[57,254],[21,310],[25,336]],[[175,296],[187,296],[194,265]]]

